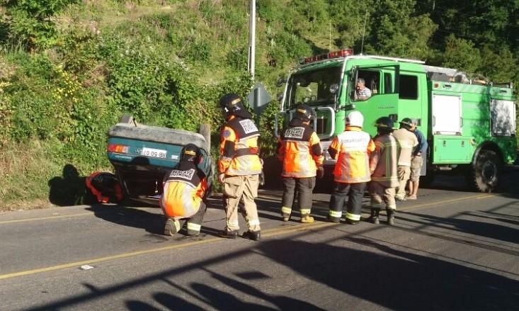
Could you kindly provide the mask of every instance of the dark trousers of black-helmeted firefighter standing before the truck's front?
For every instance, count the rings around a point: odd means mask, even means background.
[[[312,212],[312,192],[314,187],[315,177],[283,177],[283,206],[281,207],[283,217],[290,217],[295,193],[297,193],[297,203],[300,207],[301,216],[310,215]]]

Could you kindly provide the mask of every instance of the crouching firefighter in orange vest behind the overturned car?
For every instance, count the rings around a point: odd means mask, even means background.
[[[181,159],[164,179],[164,192],[159,200],[168,218],[164,234],[175,235],[181,230],[179,220],[186,219],[188,235],[200,233],[207,207],[203,201],[209,190],[207,176],[198,169],[200,150],[193,144],[183,147]]]

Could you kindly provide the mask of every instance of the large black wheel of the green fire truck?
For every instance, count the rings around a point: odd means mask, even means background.
[[[467,182],[475,191],[492,192],[496,189],[503,164],[496,152],[482,150],[467,174]]]

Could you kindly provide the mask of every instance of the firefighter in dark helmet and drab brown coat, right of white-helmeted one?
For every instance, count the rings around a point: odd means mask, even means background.
[[[375,122],[377,136],[375,150],[370,154],[370,194],[371,215],[369,220],[378,225],[380,208],[386,204],[387,222],[394,225],[397,203],[394,200],[395,188],[399,186],[398,159],[400,145],[393,137],[393,120],[388,117],[378,118]]]

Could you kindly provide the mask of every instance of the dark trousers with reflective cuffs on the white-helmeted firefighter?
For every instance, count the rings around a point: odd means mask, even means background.
[[[330,199],[331,220],[341,220],[344,201],[348,197],[346,204],[346,218],[349,220],[360,220],[360,213],[363,208],[363,196],[367,183],[335,183],[333,194]]]

